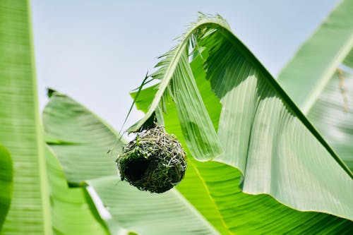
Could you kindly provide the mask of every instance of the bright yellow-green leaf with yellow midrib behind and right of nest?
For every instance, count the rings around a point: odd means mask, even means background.
[[[206,90],[207,80],[197,82],[199,90]],[[138,109],[147,112],[154,94],[153,87],[142,90],[136,100]],[[179,120],[175,119],[175,104],[170,102],[166,109],[167,131],[176,135],[189,153]],[[198,162],[191,157],[188,164],[186,177],[177,190],[213,223],[220,234],[349,234],[353,231],[353,222],[347,219],[318,212],[299,212],[269,195],[243,193],[238,187],[241,172],[234,167],[218,162]]]

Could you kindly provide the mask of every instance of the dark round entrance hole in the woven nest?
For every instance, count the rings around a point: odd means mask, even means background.
[[[124,174],[130,181],[139,181],[142,179],[145,171],[150,164],[148,159],[133,159],[126,164]]]

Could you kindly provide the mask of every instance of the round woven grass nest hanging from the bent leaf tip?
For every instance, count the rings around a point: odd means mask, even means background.
[[[140,132],[116,159],[121,180],[143,191],[163,193],[184,178],[186,156],[177,138],[155,125]]]

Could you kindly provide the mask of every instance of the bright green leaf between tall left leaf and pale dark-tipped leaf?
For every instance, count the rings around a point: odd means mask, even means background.
[[[68,188],[59,160],[48,147],[45,155],[54,234],[109,234],[85,189]]]

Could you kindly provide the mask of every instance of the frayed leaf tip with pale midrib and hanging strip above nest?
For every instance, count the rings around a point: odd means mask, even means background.
[[[162,61],[156,66],[159,69],[151,75],[161,82],[150,109],[143,119],[128,129],[128,131],[138,131],[159,107],[163,107],[160,101],[165,101],[163,97],[168,92],[174,102],[179,104],[178,116],[181,119],[186,143],[192,145],[191,153],[200,161],[213,159],[223,152],[212,120],[207,115],[201,94],[196,89],[189,65],[189,46],[195,43],[193,40],[196,34],[201,33],[201,30],[200,32],[197,30],[198,27],[203,28],[205,24],[222,25],[224,28],[229,28],[229,25],[220,17],[211,20],[208,18],[198,20],[191,30],[181,37],[179,45],[162,56]]]

